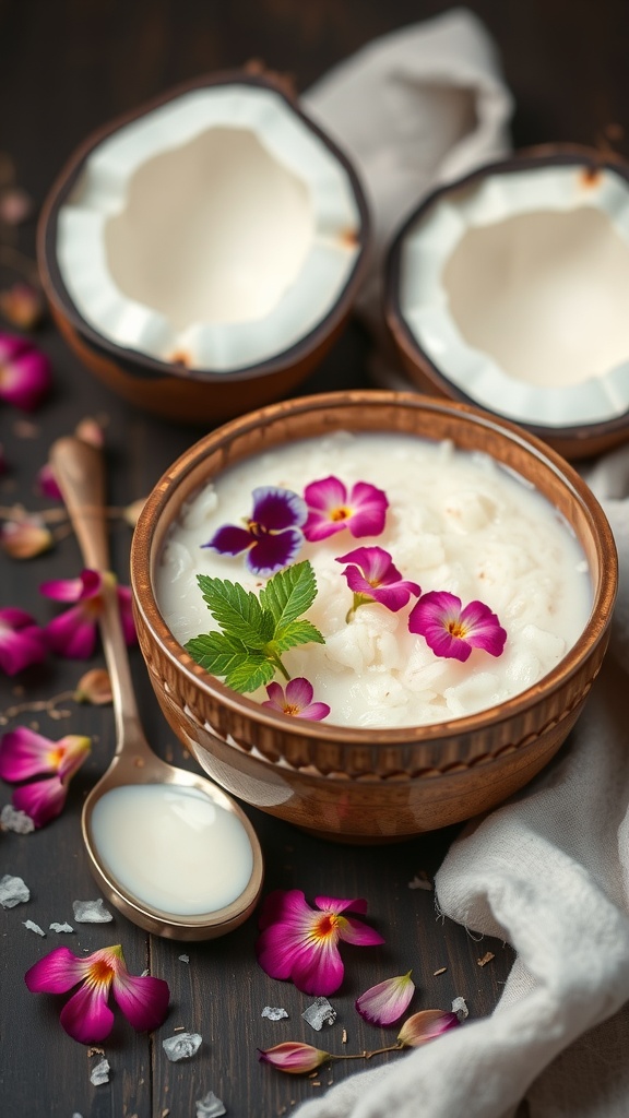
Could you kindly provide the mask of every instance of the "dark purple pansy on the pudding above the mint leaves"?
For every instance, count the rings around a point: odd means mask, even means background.
[[[292,562],[300,550],[308,509],[292,490],[261,485],[252,495],[253,512],[246,528],[225,524],[201,547],[229,556],[246,551],[252,574],[267,578]]]

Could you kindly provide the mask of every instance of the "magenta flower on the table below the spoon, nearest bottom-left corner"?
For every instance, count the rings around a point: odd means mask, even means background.
[[[82,1044],[94,1044],[109,1036],[113,1013],[107,1002],[110,991],[134,1029],[150,1032],[166,1020],[170,992],[162,978],[130,975],[122,947],[103,947],[83,958],[67,947],[56,947],[25,975],[32,994],[66,994],[79,988],[62,1010],[66,1033]]]

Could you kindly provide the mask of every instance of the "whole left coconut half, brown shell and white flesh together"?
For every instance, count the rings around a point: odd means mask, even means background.
[[[234,125],[217,125],[210,106],[209,123],[195,125],[198,134],[194,140],[185,142],[175,130],[175,135],[168,135],[163,150],[158,149],[157,157],[147,155],[144,163],[139,163],[132,172],[126,170],[126,178],[122,184],[119,182],[116,159],[124,157],[131,161],[133,153],[144,144],[147,132],[142,133],[139,144],[135,133],[130,135],[133,129],[145,129],[148,122],[151,135],[166,126],[172,132],[175,112],[181,114],[184,124],[188,124],[190,119],[196,121],[199,98],[213,96],[223,96],[225,104],[235,106],[224,110],[227,115],[234,114]],[[259,135],[265,140],[263,132],[254,132],[253,125],[251,129],[245,126],[243,104],[250,105],[253,101],[262,102],[266,117],[275,113],[281,122],[275,130],[279,139],[273,138],[273,148],[265,148],[260,142]],[[186,116],[188,106],[191,107]],[[257,116],[263,117],[264,113],[259,112]],[[163,121],[166,124],[161,123]],[[257,126],[262,129],[262,124]],[[291,153],[290,127],[299,134],[299,159]],[[220,136],[227,133],[232,139],[222,141]],[[237,145],[237,138],[241,138],[242,148],[243,136],[250,138],[248,155],[246,152],[243,155],[238,149],[232,165],[228,144]],[[200,146],[191,151],[195,144],[206,140],[208,146],[220,142],[226,145],[224,161],[212,159],[212,152]],[[111,153],[112,143],[118,144],[115,158],[109,155],[112,165],[105,171],[104,161],[106,153]],[[120,157],[119,149],[122,149]],[[147,168],[166,158],[170,160],[169,186],[163,184],[165,174],[158,171],[151,172],[153,179],[147,184]],[[188,170],[177,173],[176,161],[186,158]],[[246,158],[266,160],[272,168],[263,200],[262,187],[255,186],[255,167],[251,173],[243,171]],[[311,162],[319,160],[314,170],[307,171],[308,159]],[[133,187],[141,174],[144,186]],[[291,263],[295,274],[281,272],[284,266],[282,252],[290,252],[292,226],[289,217],[293,211],[290,207],[288,211],[285,207],[282,209],[281,201],[273,201],[275,197],[283,197],[273,174],[276,178],[285,176],[290,183],[287,191],[292,190],[302,206],[294,220],[301,220],[303,229],[308,229],[307,233],[300,229],[303,245],[297,238],[302,255],[298,254],[297,263]],[[227,186],[220,177],[228,180]],[[194,188],[186,186],[190,181]],[[179,183],[182,191],[195,190],[196,193],[191,202],[185,196],[171,212],[173,183]],[[248,189],[246,202],[241,198],[244,186]],[[143,189],[144,206],[138,203],[133,189]],[[163,210],[168,209],[168,216],[162,215],[162,202],[156,201],[158,191],[160,199],[165,196]],[[227,212],[229,199],[233,199],[233,212]],[[198,210],[196,218],[195,207]],[[276,237],[283,230],[281,249],[278,250],[275,243],[265,245],[257,256],[252,257],[250,252],[243,260],[243,247],[238,247],[237,256],[234,249],[240,230],[246,227],[250,240],[252,237],[263,239],[264,229],[270,225],[269,207],[273,207]],[[293,209],[297,214],[297,202]],[[142,211],[150,215],[145,227],[141,225]],[[184,250],[177,272],[167,248],[161,249],[162,257],[157,264],[152,258],[158,253],[156,244],[163,241],[166,245],[167,235],[175,245],[182,243],[182,235],[175,230],[179,230],[177,222],[188,220],[189,214],[188,226],[191,224],[194,231],[190,234],[186,226],[186,245],[198,240],[204,247],[203,254],[194,255],[194,275]],[[120,257],[120,274],[116,274],[111,256],[111,227],[112,221],[121,221],[121,216],[128,225],[123,233],[116,234]],[[198,230],[194,227],[195,220]],[[206,228],[209,220],[210,231]],[[149,221],[152,225],[149,226]],[[69,244],[68,222],[75,222]],[[321,225],[326,226],[323,233]],[[228,235],[224,233],[226,227]],[[97,231],[90,233],[92,228]],[[139,228],[141,235],[130,237],[130,233]],[[270,239],[269,234],[266,239]],[[276,77],[243,70],[189,82],[92,134],[72,155],[51,187],[39,221],[37,253],[53,316],[83,364],[137,407],[168,419],[201,425],[216,424],[282,398],[308,377],[345,326],[364,276],[368,240],[367,205],[347,157],[301,112],[297,101],[287,93],[284,83]],[[245,296],[237,294],[237,283],[245,292],[254,286],[259,294],[263,293],[275,257],[280,260],[276,267],[281,274],[278,302],[270,311],[252,307],[245,313],[242,311]],[[335,260],[341,263],[337,265]],[[228,276],[236,277],[229,309],[219,310],[224,297],[220,292],[229,286]],[[212,305],[205,299],[204,284],[214,292],[216,302]],[[165,290],[170,294],[165,295]],[[166,303],[172,301],[171,312],[159,305],[160,292]],[[193,315],[194,321],[177,332],[175,304],[177,313],[186,315],[195,296],[201,318],[195,320]],[[282,330],[276,325],[278,315],[272,313],[280,305],[287,307]],[[102,320],[107,315],[110,324],[105,325]],[[214,341],[204,348],[199,335],[212,330],[216,331]],[[256,331],[263,333],[263,341],[253,341],[257,338]]]

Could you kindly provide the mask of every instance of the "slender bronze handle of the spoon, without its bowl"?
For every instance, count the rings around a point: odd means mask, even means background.
[[[50,448],[50,464],[86,567],[109,570],[105,467],[101,451],[68,436]],[[133,692],[129,656],[120,620],[115,587],[102,589],[104,608],[98,618],[105,662],[110,673],[116,728],[116,755],[123,745],[142,740],[140,717]]]

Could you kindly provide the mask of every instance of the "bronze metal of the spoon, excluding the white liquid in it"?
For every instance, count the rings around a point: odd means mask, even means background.
[[[68,437],[60,438],[54,444],[50,451],[50,462],[85,566],[101,572],[107,571],[109,548],[103,455],[96,447],[83,443],[78,438]],[[90,868],[105,897],[133,923],[147,931],[171,939],[188,940],[212,939],[222,936],[236,928],[250,916],[260,896],[263,860],[257,836],[244,812],[226,793],[204,777],[168,765],[152,751],[140,723],[113,580],[111,582],[105,580],[103,599],[104,608],[100,616],[100,628],[112,684],[116,746],[110,767],[92,788],[83,807],[82,830],[90,858]],[[229,833],[233,832],[236,837],[238,850],[246,852],[245,874],[248,870],[248,847],[246,844],[248,839],[252,853],[251,877],[237,897],[215,910],[196,912],[193,916],[180,915],[177,911],[177,903],[173,904],[175,911],[170,911],[168,907],[157,908],[140,896],[141,889],[135,894],[129,882],[116,878],[102,850],[98,850],[93,826],[94,809],[102,797],[112,789],[130,788],[131,795],[133,795],[133,789],[138,785],[168,786],[168,790],[173,790],[171,798],[177,802],[181,798],[182,805],[180,804],[179,807],[184,806],[186,809],[187,805],[190,804],[190,796],[196,796],[197,806],[199,793],[207,797],[216,808],[216,813],[209,812],[209,815],[216,814],[219,821],[227,824],[231,828]],[[176,789],[186,789],[187,792],[180,795]],[[126,793],[123,795],[126,796]],[[149,795],[152,797],[152,793]],[[161,793],[158,795],[161,797]],[[111,799],[109,803],[111,804]],[[200,809],[207,814],[205,800],[203,800]],[[223,812],[231,813],[232,817],[225,819]],[[234,821],[234,817],[240,821],[240,824]],[[132,827],[138,828],[139,824],[133,815],[130,815],[129,819],[124,819],[125,824],[128,822]],[[138,832],[138,849],[141,845],[141,839],[142,835]],[[214,855],[214,851],[212,853]],[[207,863],[208,878],[212,877],[213,870],[210,863],[218,860],[224,864],[228,855],[229,851],[225,849],[215,852],[215,856]],[[161,873],[159,858],[157,859],[157,869],[156,856],[149,861],[152,863],[148,866],[150,873],[153,877],[156,873]],[[118,873],[120,874],[120,872],[119,870]],[[216,872],[219,872],[218,862]],[[122,877],[125,874],[126,865],[124,864]]]

